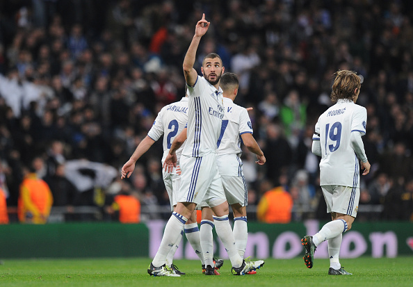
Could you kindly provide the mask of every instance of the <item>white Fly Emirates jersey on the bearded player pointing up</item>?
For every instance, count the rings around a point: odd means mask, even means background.
[[[188,97],[188,131],[182,154],[200,157],[216,152],[224,117],[222,89],[198,76],[195,85],[188,86]]]

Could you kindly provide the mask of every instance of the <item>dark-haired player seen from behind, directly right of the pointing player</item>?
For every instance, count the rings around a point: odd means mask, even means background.
[[[252,124],[246,108],[234,104],[238,94],[238,76],[234,73],[222,74],[220,88],[224,97],[225,115],[222,120],[220,136],[218,138],[218,171],[222,179],[227,202],[231,204],[234,214],[234,238],[238,254],[243,257],[248,239],[247,209],[248,190],[243,175],[241,155],[241,138],[244,145],[256,154],[259,165],[264,165],[266,158],[259,145],[252,136]],[[241,138],[240,138],[241,136]],[[171,150],[180,147],[186,140],[186,129],[172,142]],[[176,145],[176,146],[175,146]],[[212,259],[213,215],[204,202],[202,205],[201,246],[204,259]],[[248,272],[254,274],[255,271]],[[255,272],[256,273],[256,272]]]

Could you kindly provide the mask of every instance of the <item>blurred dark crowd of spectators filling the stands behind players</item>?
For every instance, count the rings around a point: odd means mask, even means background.
[[[333,74],[364,76],[371,172],[360,204],[384,220],[413,220],[413,2],[410,0],[0,1],[0,188],[17,206],[24,167],[55,206],[111,206],[135,195],[169,206],[161,141],[127,181],[118,174],[165,104],[184,96],[182,63],[195,24],[211,22],[195,68],[216,52],[240,78],[236,104],[253,107],[267,163],[243,153],[249,204],[282,186],[293,220],[325,218],[318,116]],[[77,174],[79,177],[74,177]],[[84,184],[83,184],[84,183]],[[168,207],[166,207],[168,208]]]

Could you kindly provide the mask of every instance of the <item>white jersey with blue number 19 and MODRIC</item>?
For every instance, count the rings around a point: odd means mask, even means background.
[[[320,185],[359,187],[359,159],[350,133],[366,134],[367,111],[353,101],[339,99],[319,118],[313,140],[320,140]]]

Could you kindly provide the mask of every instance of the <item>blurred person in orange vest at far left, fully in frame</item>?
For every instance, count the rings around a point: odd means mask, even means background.
[[[53,196],[47,183],[36,175],[33,163],[23,168],[17,215],[22,223],[44,224],[49,218]]]

